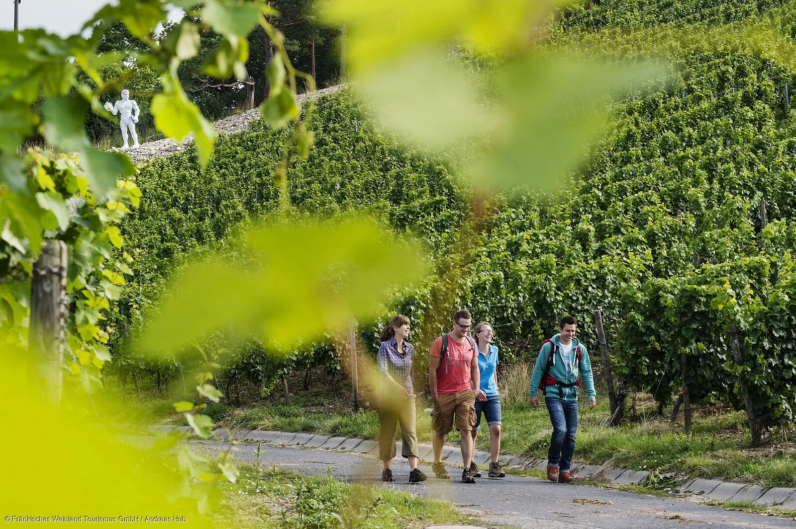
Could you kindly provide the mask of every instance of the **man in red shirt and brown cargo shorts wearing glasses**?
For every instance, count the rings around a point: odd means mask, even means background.
[[[470,473],[470,454],[473,449],[471,432],[475,426],[475,398],[485,400],[481,391],[481,374],[478,371],[478,348],[467,333],[472,319],[468,311],[456,311],[453,330],[443,334],[431,344],[428,361],[428,384],[434,411],[431,411],[431,429],[434,431],[434,470],[436,477],[450,478],[442,461],[445,434],[456,429],[462,434],[462,483],[475,483]]]

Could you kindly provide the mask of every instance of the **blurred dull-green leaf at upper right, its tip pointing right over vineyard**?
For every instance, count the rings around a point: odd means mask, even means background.
[[[492,149],[468,174],[484,187],[551,186],[607,126],[612,96],[660,76],[659,64],[607,64],[528,58],[497,75],[505,117]]]

